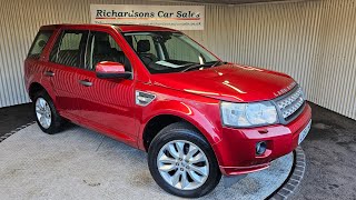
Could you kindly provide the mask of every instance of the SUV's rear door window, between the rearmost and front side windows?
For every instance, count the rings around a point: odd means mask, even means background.
[[[81,67],[88,31],[65,31],[56,42],[50,61],[63,66]]]

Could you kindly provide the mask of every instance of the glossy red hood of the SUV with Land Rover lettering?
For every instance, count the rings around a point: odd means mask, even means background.
[[[154,74],[151,81],[156,86],[233,102],[270,100],[296,84],[287,74],[239,64]]]

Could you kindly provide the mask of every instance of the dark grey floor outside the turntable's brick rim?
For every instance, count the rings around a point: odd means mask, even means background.
[[[301,143],[307,158],[290,199],[356,199],[356,121],[312,104],[313,126]],[[33,121],[30,104],[0,109],[0,136]]]

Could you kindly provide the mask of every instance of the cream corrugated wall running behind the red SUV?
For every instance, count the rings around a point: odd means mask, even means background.
[[[41,24],[88,23],[90,3],[184,4],[145,0],[0,1],[0,107],[29,102],[22,62]],[[293,76],[310,101],[356,119],[355,2],[207,4],[205,30],[185,32],[224,60]]]

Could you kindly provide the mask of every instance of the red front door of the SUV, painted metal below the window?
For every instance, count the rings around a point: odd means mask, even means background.
[[[130,79],[98,79],[93,71],[79,70],[77,80],[92,83],[86,87],[77,81],[76,98],[79,114],[88,123],[95,123],[115,132],[113,138],[136,146],[137,126],[135,81]]]

